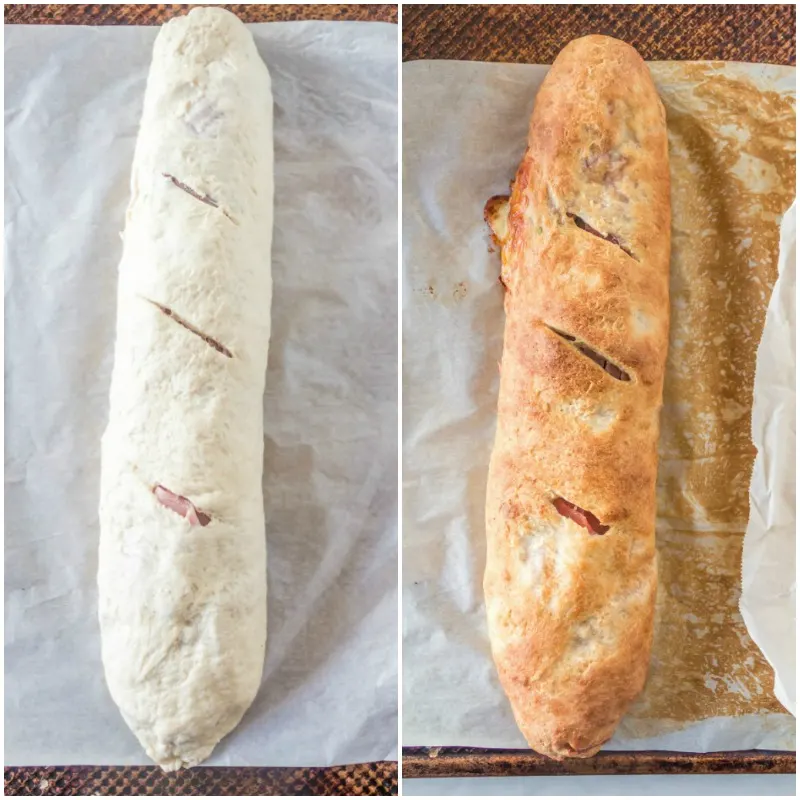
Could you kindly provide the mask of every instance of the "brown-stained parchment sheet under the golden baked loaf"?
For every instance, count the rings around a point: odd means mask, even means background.
[[[482,212],[508,191],[547,68],[403,69],[403,742],[524,748],[481,588],[504,325]],[[738,599],[756,347],[794,197],[794,70],[652,71],[673,183],[659,596],[647,687],[609,748],[793,749]]]

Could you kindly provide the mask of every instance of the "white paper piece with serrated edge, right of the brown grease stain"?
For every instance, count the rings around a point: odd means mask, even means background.
[[[748,632],[775,670],[775,696],[795,716],[796,225],[793,204],[781,225],[778,280],[756,360],[753,442],[758,455],[750,482],[750,520],[744,538],[739,601]]]

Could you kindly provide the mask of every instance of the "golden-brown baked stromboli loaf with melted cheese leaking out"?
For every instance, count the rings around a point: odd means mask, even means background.
[[[664,108],[636,51],[570,43],[537,97],[502,245],[486,505],[492,651],[530,746],[589,756],[644,686],[669,325]]]

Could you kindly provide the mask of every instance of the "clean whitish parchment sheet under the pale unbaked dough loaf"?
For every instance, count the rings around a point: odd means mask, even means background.
[[[263,684],[207,763],[396,758],[397,28],[250,26],[275,98]],[[99,443],[157,28],[6,26],[5,763],[142,764],[105,686]]]

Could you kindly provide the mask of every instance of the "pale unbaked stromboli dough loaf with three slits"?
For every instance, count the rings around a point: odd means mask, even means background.
[[[111,694],[169,770],[205,759],[239,722],[266,641],[272,94],[227,11],[196,9],[159,33],[131,193],[99,615]]]

